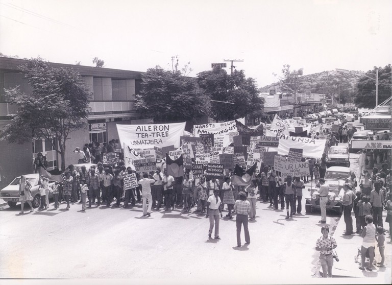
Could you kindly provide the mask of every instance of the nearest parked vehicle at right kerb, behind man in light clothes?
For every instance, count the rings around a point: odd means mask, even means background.
[[[339,215],[343,212],[343,185],[346,179],[350,178],[351,169],[347,167],[330,167],[325,173],[325,181],[329,185],[327,210],[334,210]],[[317,188],[314,184],[308,188],[310,196],[306,197],[305,210],[311,212],[318,208],[320,209],[320,194],[317,193]]]

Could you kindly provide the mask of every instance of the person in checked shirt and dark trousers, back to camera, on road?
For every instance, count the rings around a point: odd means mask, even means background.
[[[255,183],[256,184],[256,183]],[[257,192],[256,192],[257,193]],[[256,196],[256,194],[254,194]],[[234,209],[237,213],[236,216],[236,226],[237,226],[237,247],[241,247],[241,227],[243,224],[243,231],[245,233],[246,244],[251,243],[251,238],[248,229],[248,215],[251,211],[251,204],[247,200],[247,195],[241,191],[238,194],[238,200],[234,203]],[[256,197],[254,199],[256,201]]]

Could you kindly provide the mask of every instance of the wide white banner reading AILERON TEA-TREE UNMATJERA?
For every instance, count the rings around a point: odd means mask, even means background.
[[[131,148],[151,148],[174,146],[180,147],[180,136],[185,130],[185,123],[151,124],[151,125],[118,125],[117,132],[121,144]]]

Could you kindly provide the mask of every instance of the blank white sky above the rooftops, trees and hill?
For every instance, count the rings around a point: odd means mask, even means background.
[[[283,64],[367,71],[391,51],[389,0],[0,0],[0,52],[20,58],[144,72],[178,55],[189,76],[240,59],[262,87]]]

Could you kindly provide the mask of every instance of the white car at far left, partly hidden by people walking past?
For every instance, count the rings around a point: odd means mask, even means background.
[[[32,187],[30,189],[31,196],[33,196],[33,207],[36,208],[39,206],[39,202],[41,200],[41,195],[39,194],[39,174],[26,174],[26,179],[31,183]],[[0,197],[8,203],[8,206],[11,208],[16,207],[16,204],[19,202],[19,183],[20,176],[16,177],[8,186],[4,187],[0,190]],[[55,181],[49,180],[49,186],[52,186]],[[49,198],[52,198],[53,194],[49,193]]]

